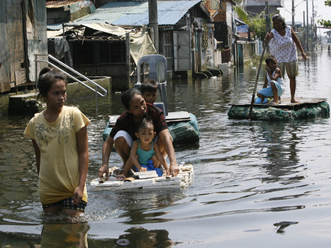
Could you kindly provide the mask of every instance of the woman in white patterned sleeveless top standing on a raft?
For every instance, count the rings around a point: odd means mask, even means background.
[[[307,60],[305,51],[293,28],[286,26],[284,19],[280,15],[274,15],[272,23],[274,29],[267,33],[266,40],[270,40],[270,52],[276,57],[281,74],[284,77],[286,69],[287,76],[290,79],[291,103],[298,103],[295,98],[296,76],[299,74],[296,47],[301,51],[303,60]]]

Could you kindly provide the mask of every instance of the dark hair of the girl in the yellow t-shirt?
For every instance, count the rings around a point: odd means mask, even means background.
[[[67,77],[62,72],[59,72],[57,69],[52,67],[43,68],[39,73],[38,98],[41,99],[43,96],[47,96],[52,84],[59,80],[63,80],[67,84]]]

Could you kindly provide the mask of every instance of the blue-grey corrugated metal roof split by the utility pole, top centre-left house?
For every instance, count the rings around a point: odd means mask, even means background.
[[[201,0],[193,1],[157,1],[157,19],[159,26],[174,25]],[[80,18],[75,23],[106,22],[113,25],[142,26],[149,23],[148,2],[125,1],[108,2],[95,13]]]

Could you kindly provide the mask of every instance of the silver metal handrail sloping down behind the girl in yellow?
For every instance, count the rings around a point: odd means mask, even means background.
[[[38,60],[38,56],[43,56],[43,57],[49,57],[50,59],[54,60],[55,62],[61,64],[63,67],[69,69],[71,72],[74,72],[75,74],[79,75],[79,77],[82,77],[83,79],[85,79],[86,81],[89,81],[91,84],[93,84],[94,86],[96,86],[96,89],[91,88],[89,85],[84,84],[82,81],[80,81],[79,79],[77,79],[76,77],[72,76],[71,74],[65,72],[63,69],[61,69],[60,67],[57,67],[55,64],[53,64],[52,62],[49,62],[48,60]],[[96,94],[98,94],[99,96],[106,96],[108,94],[108,91],[106,89],[104,89],[102,86],[100,86],[99,84],[96,84],[96,82],[92,81],[91,79],[85,77],[83,74],[77,72],[76,70],[72,69],[72,67],[69,67],[67,64],[64,64],[63,62],[61,62],[60,60],[57,60],[55,57],[53,57],[52,55],[35,55],[35,89],[38,90],[38,66],[37,66],[37,62],[45,62],[47,64],[52,65],[52,67],[55,67],[56,69],[60,70],[61,72],[63,72],[64,74],[66,74],[68,77],[76,80],[77,82],[79,82],[79,84],[83,84],[84,86],[86,86],[88,89],[90,89],[91,91],[94,91]],[[98,88],[103,91],[103,94],[101,94],[101,92],[98,91]]]

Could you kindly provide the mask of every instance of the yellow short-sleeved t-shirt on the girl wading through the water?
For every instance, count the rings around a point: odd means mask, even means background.
[[[74,195],[79,184],[76,133],[90,120],[74,107],[64,106],[53,123],[43,112],[35,114],[24,134],[40,149],[39,197],[42,204],[50,204]],[[86,186],[82,200],[87,202]]]

